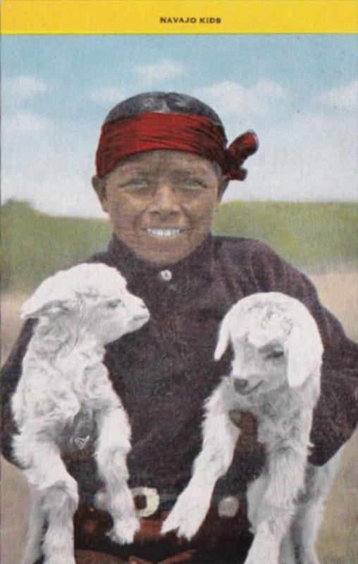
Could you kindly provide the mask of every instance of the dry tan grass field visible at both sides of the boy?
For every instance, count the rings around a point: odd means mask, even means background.
[[[358,272],[349,271],[311,276],[321,301],[345,326],[347,334],[358,341]],[[8,295],[3,301],[1,342],[2,359],[8,355],[19,329],[18,309],[24,297]],[[20,472],[2,462],[2,564],[18,564],[25,536],[27,487]],[[326,503],[319,537],[321,564],[358,563],[358,441],[357,433],[347,443],[340,472]],[[219,563],[218,563],[219,564]]]

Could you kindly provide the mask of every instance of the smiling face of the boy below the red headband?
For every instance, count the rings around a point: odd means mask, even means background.
[[[93,184],[113,233],[156,264],[173,264],[195,250],[221,200],[212,164],[179,151],[135,154]]]

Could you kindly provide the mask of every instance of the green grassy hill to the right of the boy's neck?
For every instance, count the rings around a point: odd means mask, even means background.
[[[229,202],[218,210],[214,233],[260,239],[311,274],[358,262],[355,202]]]

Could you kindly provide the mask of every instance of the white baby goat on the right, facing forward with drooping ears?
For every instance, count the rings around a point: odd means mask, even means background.
[[[229,413],[247,411],[257,419],[266,467],[247,492],[255,537],[245,564],[317,564],[314,544],[321,506],[337,457],[322,468],[307,463],[323,353],[316,322],[298,300],[258,293],[226,314],[216,360],[229,343],[232,372],[206,401],[202,451],[162,532],[178,529],[187,539],[195,535],[240,435]]]

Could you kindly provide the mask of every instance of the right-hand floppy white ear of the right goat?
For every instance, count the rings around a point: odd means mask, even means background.
[[[323,347],[318,330],[313,333],[293,327],[285,342],[285,353],[288,358],[288,384],[297,388],[321,366]]]

